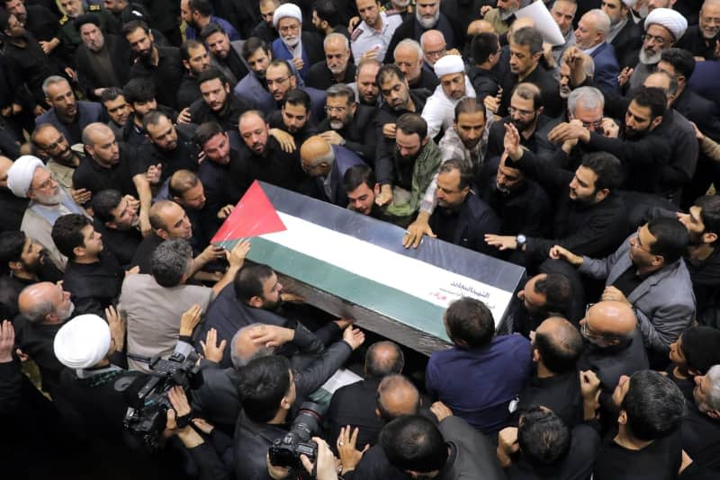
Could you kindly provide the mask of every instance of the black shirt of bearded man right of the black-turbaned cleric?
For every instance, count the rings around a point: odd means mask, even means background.
[[[148,78],[155,84],[155,99],[174,109],[177,108],[177,89],[183,78],[183,63],[180,49],[158,47],[157,67],[147,60],[138,58],[130,68],[130,78]]]

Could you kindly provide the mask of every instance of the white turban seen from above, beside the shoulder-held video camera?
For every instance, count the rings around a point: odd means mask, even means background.
[[[76,316],[60,327],[53,349],[68,369],[88,369],[110,350],[110,327],[96,315]]]

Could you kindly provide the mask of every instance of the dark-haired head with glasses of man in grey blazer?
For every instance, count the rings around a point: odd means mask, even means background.
[[[680,260],[688,244],[688,230],[678,219],[653,218],[630,237],[630,259],[638,269],[660,270]]]

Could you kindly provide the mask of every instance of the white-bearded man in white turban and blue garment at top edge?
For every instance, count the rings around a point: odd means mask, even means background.
[[[296,4],[282,4],[273,13],[280,38],[273,41],[273,58],[293,62],[304,80],[310,67],[324,60],[320,35],[302,31],[302,11]]]

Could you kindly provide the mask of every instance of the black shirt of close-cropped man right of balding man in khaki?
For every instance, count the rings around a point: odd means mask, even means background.
[[[133,148],[120,144],[120,160],[110,168],[98,164],[92,158],[81,161],[73,173],[73,187],[87,189],[93,194],[114,189],[122,195],[132,195],[137,199],[138,191],[132,179],[147,170],[139,164]]]

